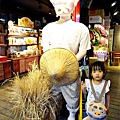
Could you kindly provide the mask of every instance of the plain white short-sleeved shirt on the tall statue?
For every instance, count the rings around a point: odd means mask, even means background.
[[[78,50],[89,50],[89,30],[84,24],[72,20],[62,24],[52,22],[42,30],[42,45],[44,52],[50,48],[66,48],[75,54]]]

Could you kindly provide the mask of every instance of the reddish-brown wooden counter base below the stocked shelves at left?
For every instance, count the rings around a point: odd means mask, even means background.
[[[40,55],[13,58],[0,62],[0,80],[5,80],[13,77],[14,75],[27,72],[31,69],[31,64],[34,60],[39,66]]]

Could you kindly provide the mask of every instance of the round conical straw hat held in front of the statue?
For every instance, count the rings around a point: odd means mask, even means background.
[[[79,65],[73,52],[64,48],[53,48],[41,56],[40,69],[51,83],[62,86],[76,80]]]

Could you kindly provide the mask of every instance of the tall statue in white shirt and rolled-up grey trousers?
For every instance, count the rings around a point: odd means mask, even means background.
[[[50,48],[66,48],[71,50],[78,61],[83,58],[87,50],[91,48],[88,28],[72,21],[71,13],[79,0],[50,0],[53,4],[56,16],[59,20],[47,24],[42,31],[43,51]],[[72,69],[72,68],[71,68]],[[72,84],[53,85],[54,94],[62,93],[66,107],[69,111],[68,120],[75,120],[75,114],[79,109],[80,81],[76,79]]]

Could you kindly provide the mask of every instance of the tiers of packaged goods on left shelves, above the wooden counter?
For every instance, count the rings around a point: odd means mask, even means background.
[[[38,53],[38,38],[39,34],[35,28],[24,26],[9,26],[8,27],[8,56],[13,54],[17,57],[27,56],[27,54]],[[31,52],[31,53],[30,53]],[[25,55],[26,54],[26,55]]]

